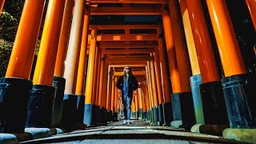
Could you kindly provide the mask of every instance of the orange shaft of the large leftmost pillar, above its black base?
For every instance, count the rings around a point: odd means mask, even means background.
[[[44,0],[25,2],[6,77],[30,79],[44,6]]]

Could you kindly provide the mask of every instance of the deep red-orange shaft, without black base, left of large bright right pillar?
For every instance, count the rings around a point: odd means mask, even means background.
[[[207,30],[206,19],[200,0],[186,0],[190,15],[190,22],[194,36],[194,43],[198,54],[202,83],[219,81],[218,68]]]

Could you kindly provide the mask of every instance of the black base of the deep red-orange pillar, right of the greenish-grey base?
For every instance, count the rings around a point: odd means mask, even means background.
[[[199,86],[206,125],[228,124],[226,104],[221,82],[207,82]],[[220,117],[221,115],[221,117]]]

